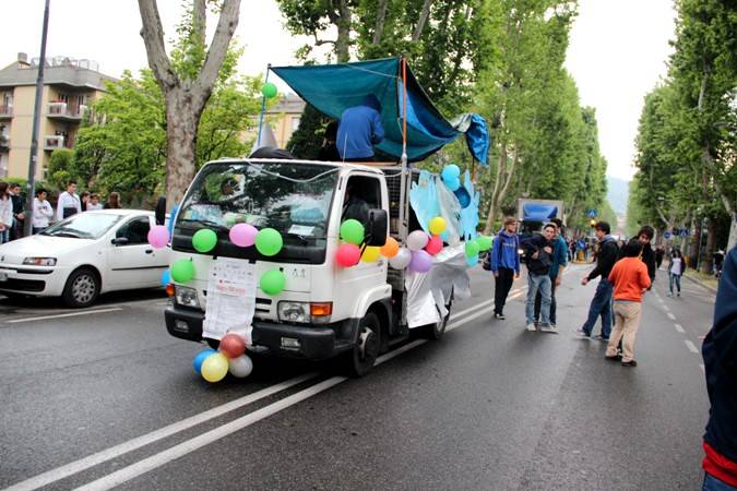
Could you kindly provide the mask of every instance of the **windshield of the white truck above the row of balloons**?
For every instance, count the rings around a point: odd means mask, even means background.
[[[217,163],[198,175],[178,227],[271,227],[305,244],[326,237],[337,168],[305,164]]]

